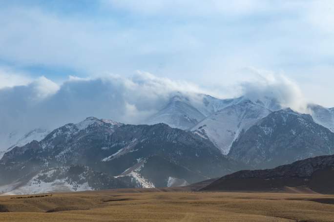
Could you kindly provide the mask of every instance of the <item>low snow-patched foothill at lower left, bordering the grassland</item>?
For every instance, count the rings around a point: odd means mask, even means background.
[[[24,176],[9,185],[0,186],[6,195],[130,188],[139,186],[129,176],[114,178],[87,166],[71,165],[46,168],[34,176]]]

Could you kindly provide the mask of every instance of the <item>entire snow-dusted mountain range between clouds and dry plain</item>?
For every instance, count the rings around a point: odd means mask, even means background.
[[[180,186],[331,155],[333,110],[309,105],[303,114],[266,96],[178,93],[148,125],[88,117],[15,136],[2,149],[0,192]]]

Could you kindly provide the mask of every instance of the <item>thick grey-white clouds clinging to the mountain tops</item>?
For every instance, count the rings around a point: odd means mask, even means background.
[[[303,111],[305,98],[295,83],[283,75],[257,76],[253,82],[240,83],[235,96],[274,97],[284,107]],[[0,74],[0,78],[4,77]],[[211,94],[189,82],[143,72],[130,78],[112,74],[92,78],[70,76],[61,84],[44,76],[16,84],[9,82],[0,89],[0,130],[4,133],[38,127],[52,129],[88,116],[140,124],[180,93],[190,103],[201,102],[201,94]]]

